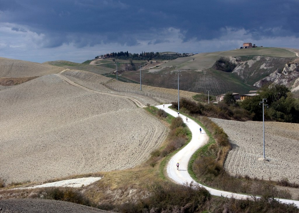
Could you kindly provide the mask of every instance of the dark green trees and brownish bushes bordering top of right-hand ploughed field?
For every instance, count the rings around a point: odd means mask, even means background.
[[[264,104],[264,119],[266,121],[278,121],[299,123],[299,99],[293,97],[291,91],[284,85],[265,85],[258,92],[259,95],[249,97],[238,102],[232,92],[225,94],[223,101],[218,104],[202,104],[201,102],[189,101],[182,98],[180,109],[191,116],[201,115],[227,120],[237,121],[262,121],[262,99],[267,99]],[[200,100],[193,98],[195,100]],[[178,109],[178,102],[172,102],[173,108]]]

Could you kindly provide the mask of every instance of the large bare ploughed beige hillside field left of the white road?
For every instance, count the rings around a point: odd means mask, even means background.
[[[88,92],[57,75],[0,90],[0,99],[5,182],[134,167],[167,131],[132,101]]]

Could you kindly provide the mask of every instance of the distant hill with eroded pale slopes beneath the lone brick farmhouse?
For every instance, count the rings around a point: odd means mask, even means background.
[[[215,69],[213,65],[221,57],[229,59],[236,68],[232,72]],[[177,72],[180,70],[180,90],[197,93],[206,93],[206,90],[210,90],[212,95],[228,91],[247,94],[249,90],[256,90],[265,83],[286,78],[287,74],[280,74],[287,64],[295,63],[296,59],[298,57],[295,52],[272,47],[201,53],[162,63],[146,62],[141,79],[142,84],[145,85],[176,89],[178,88]],[[272,77],[269,78],[268,76],[271,75]],[[139,70],[124,69],[119,76],[126,79],[124,81],[140,82]],[[283,81],[283,84],[291,88],[292,82],[297,77],[293,72],[292,76],[287,77],[288,80]]]

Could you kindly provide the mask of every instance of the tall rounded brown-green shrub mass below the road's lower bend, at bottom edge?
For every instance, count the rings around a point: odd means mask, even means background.
[[[210,193],[193,182],[177,185],[172,182],[148,186],[149,196],[136,203],[101,205],[100,209],[116,212],[202,212],[211,199]]]

